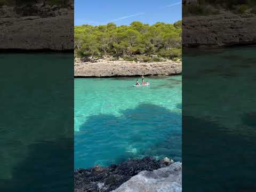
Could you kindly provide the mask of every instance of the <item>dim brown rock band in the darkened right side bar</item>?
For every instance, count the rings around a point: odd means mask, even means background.
[[[230,46],[255,43],[255,14],[227,13],[182,18],[182,46]]]

